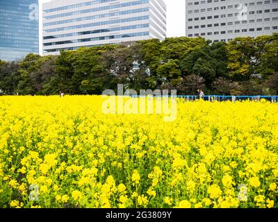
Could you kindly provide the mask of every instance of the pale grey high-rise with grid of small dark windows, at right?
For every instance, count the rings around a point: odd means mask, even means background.
[[[228,42],[278,32],[278,0],[186,0],[186,36]]]

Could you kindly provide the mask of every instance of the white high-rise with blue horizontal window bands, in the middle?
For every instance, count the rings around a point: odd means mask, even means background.
[[[163,0],[56,0],[42,7],[44,55],[166,37]]]

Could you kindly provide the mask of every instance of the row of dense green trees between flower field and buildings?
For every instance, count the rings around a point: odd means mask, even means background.
[[[28,54],[0,60],[0,94],[101,94],[126,89],[177,89],[178,94],[278,94],[278,33],[211,42],[170,37],[130,44]]]

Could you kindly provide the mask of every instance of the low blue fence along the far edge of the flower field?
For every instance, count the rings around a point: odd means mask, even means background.
[[[140,97],[140,96],[131,96],[131,97]],[[154,97],[163,97],[163,96],[155,96]],[[199,99],[199,96],[191,96],[191,95],[177,95],[168,97],[177,97],[181,99],[185,99],[186,101],[196,101]],[[270,101],[272,103],[278,103],[278,96],[220,96],[220,95],[209,95],[204,96],[204,101],[261,101],[261,99],[265,99],[266,101]]]

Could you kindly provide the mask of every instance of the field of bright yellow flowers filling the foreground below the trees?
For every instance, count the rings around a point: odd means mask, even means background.
[[[278,207],[278,105],[0,97],[0,207]]]

